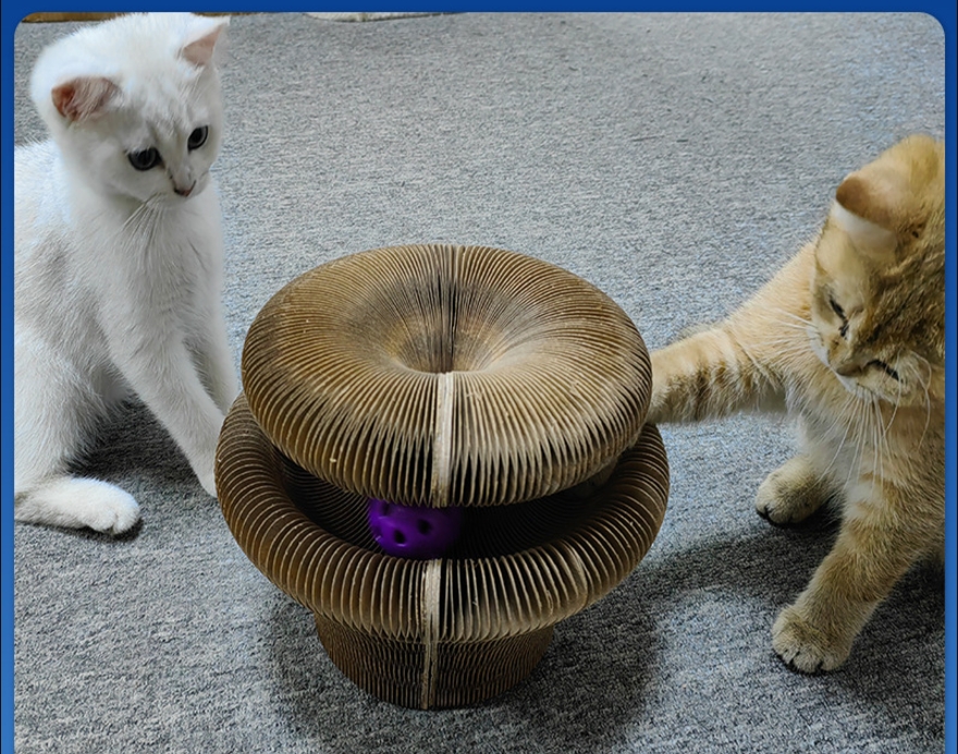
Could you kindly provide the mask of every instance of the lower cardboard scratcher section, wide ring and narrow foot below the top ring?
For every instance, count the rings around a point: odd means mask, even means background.
[[[426,709],[475,704],[526,678],[553,627],[646,555],[668,466],[647,426],[601,486],[469,511],[450,557],[407,560],[363,531],[363,496],[304,475],[241,396],[220,436],[217,489],[236,542],[314,613],[335,665],[384,701]]]

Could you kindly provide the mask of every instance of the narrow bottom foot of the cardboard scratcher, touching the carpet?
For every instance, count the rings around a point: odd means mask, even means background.
[[[552,641],[553,627],[478,642],[425,642],[370,636],[316,616],[333,664],[379,698],[418,709],[478,704],[526,679]]]

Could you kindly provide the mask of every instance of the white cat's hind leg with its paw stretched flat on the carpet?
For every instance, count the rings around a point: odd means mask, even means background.
[[[103,404],[54,349],[19,327],[14,338],[14,518],[119,534],[139,519],[119,487],[66,475]]]

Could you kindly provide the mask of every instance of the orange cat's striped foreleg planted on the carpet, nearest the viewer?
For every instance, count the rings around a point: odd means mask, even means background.
[[[772,627],[772,647],[802,672],[833,670],[874,609],[922,555],[926,532],[883,501],[846,508],[835,546]]]

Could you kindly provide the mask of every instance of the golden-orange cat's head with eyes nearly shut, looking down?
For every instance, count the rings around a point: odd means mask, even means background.
[[[850,392],[896,405],[944,400],[942,142],[909,136],[843,181],[811,290],[812,346]]]

